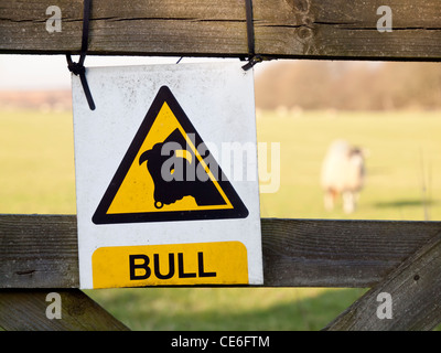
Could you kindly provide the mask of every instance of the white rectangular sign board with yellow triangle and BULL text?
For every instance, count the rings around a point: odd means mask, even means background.
[[[80,288],[262,284],[252,71],[73,76]]]

